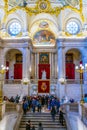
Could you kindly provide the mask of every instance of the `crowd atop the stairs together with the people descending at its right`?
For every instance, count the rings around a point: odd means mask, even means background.
[[[23,112],[24,114],[27,113],[27,111],[32,111],[33,113],[35,112],[42,112],[42,108],[47,109],[51,116],[52,120],[55,121],[55,116],[56,114],[59,113],[59,120],[60,123],[63,125],[63,114],[64,112],[62,111],[60,100],[55,97],[55,96],[48,96],[48,95],[43,95],[43,96],[30,96],[30,97],[23,97]],[[60,109],[61,108],[61,109]]]

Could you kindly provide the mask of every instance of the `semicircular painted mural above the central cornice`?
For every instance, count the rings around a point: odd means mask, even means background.
[[[33,38],[34,45],[55,45],[55,36],[48,30],[37,32]]]

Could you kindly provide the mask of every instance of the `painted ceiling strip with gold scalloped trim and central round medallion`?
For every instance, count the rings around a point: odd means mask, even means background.
[[[82,15],[82,0],[3,0],[6,14],[18,9],[25,10],[29,15],[49,13],[58,15],[61,10],[69,8]]]

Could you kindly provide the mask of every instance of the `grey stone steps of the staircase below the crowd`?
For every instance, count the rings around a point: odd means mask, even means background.
[[[55,121],[53,122],[49,112],[27,112],[21,119],[19,130],[25,130],[28,120],[31,120],[32,125],[36,128],[35,130],[37,130],[39,122],[42,122],[44,130],[67,130],[65,122],[63,126],[60,124],[59,115],[56,115]]]

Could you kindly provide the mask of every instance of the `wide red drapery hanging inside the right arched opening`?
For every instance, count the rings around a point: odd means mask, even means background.
[[[75,79],[75,64],[66,63],[66,78]]]

